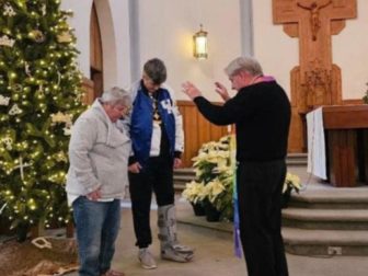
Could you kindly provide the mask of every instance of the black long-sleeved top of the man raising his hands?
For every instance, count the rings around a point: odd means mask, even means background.
[[[199,112],[216,125],[235,124],[238,161],[273,161],[287,154],[290,102],[276,81],[241,89],[222,106],[203,96],[194,99]]]

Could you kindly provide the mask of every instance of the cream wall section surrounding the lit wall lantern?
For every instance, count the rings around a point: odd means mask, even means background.
[[[223,68],[241,54],[239,0],[140,0],[140,61],[164,60],[168,83],[187,100],[181,84],[191,80],[214,101],[215,80],[229,84]],[[208,59],[193,57],[193,35],[203,23],[208,32]],[[142,65],[140,65],[142,66]]]

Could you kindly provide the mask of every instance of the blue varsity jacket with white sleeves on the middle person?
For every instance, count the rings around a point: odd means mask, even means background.
[[[138,161],[145,165],[150,157],[160,156],[162,131],[169,140],[170,156],[174,157],[184,150],[183,119],[174,100],[172,90],[162,84],[154,92],[158,100],[158,112],[161,116],[162,127],[153,124],[153,103],[142,87],[141,81],[133,84],[130,89],[133,110],[129,122],[129,133],[133,153],[129,163]]]

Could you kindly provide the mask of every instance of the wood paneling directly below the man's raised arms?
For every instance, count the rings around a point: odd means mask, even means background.
[[[189,168],[193,164],[192,158],[197,156],[200,146],[226,136],[228,127],[210,124],[202,116],[193,102],[177,101],[177,107],[183,116],[185,138],[183,166]]]

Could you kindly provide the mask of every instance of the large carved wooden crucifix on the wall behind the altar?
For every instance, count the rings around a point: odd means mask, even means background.
[[[299,66],[292,68],[289,151],[306,150],[304,115],[342,103],[341,69],[332,61],[331,36],[357,14],[356,0],[273,0],[275,24],[299,37]]]

